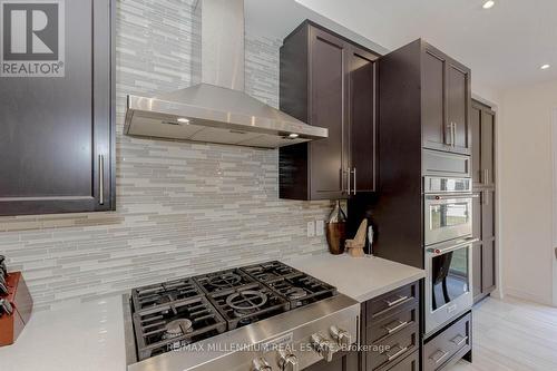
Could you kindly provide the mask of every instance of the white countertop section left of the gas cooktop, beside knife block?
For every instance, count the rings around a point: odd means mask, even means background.
[[[125,371],[121,296],[33,313],[0,371]]]

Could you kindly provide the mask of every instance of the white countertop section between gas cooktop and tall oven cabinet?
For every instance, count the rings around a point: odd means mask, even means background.
[[[322,254],[284,263],[336,286],[361,303],[426,276],[426,271],[372,256]]]

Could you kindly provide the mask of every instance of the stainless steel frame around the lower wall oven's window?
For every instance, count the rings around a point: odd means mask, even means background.
[[[472,246],[473,243],[477,242],[478,238],[467,238],[466,242],[457,241],[452,243],[442,243],[438,244],[433,247],[429,246],[426,248],[426,338],[431,335],[437,330],[441,329],[443,325],[450,323],[453,319],[458,318],[460,314],[469,311],[473,305],[473,261],[472,261]],[[432,295],[431,295],[431,258],[437,256],[434,251],[443,251],[448,253],[450,251],[459,250],[459,248],[468,248],[468,292],[455,301],[444,304],[438,307],[436,311],[432,311]],[[449,309],[455,307],[449,311]]]

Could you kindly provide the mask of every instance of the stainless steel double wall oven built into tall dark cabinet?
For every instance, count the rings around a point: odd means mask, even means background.
[[[473,304],[470,178],[424,177],[426,335]]]

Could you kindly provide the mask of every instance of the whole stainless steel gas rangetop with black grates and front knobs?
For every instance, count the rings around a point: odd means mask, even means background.
[[[129,371],[303,370],[359,343],[360,304],[281,262],[125,295]]]

